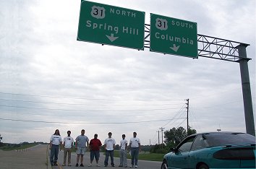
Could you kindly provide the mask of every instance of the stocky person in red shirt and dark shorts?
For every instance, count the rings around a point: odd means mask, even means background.
[[[92,166],[94,157],[97,163],[97,167],[101,167],[101,165],[98,164],[101,145],[101,140],[98,139],[98,134],[94,134],[94,138],[90,140],[90,165],[88,165],[88,167]]]

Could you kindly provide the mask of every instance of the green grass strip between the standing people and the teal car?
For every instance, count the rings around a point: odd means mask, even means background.
[[[149,161],[163,161],[164,154],[150,153],[150,152],[140,152],[139,160],[149,160]],[[114,151],[114,157],[119,157],[119,151]],[[131,159],[129,153],[127,153],[127,158]]]

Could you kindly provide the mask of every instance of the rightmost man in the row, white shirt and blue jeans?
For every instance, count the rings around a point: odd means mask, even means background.
[[[131,149],[131,156],[132,156],[132,165],[129,166],[130,168],[138,167],[138,155],[140,152],[140,139],[137,138],[137,133],[133,132],[133,137],[129,140],[129,147]]]

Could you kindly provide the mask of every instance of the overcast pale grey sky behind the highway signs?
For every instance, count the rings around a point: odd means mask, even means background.
[[[254,0],[95,0],[197,22],[197,33],[247,47],[255,110]],[[239,64],[77,41],[79,0],[0,0],[2,142],[49,142],[59,129],[89,139],[132,132],[158,143],[159,128],[246,131]],[[254,114],[255,115],[255,114]],[[161,136],[161,135],[160,135]]]

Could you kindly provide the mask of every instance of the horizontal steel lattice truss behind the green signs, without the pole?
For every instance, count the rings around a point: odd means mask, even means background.
[[[145,24],[145,48],[150,48],[150,25]],[[249,45],[232,40],[214,38],[207,35],[197,34],[198,56],[216,58],[223,61],[239,62],[244,59],[239,56],[237,46]],[[247,58],[250,60],[251,58]]]

